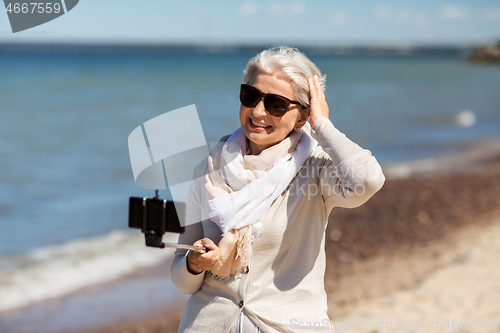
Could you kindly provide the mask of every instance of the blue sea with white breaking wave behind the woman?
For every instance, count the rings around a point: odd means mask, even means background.
[[[154,194],[134,183],[128,135],[190,104],[207,142],[232,133],[251,56],[0,52],[0,311],[165,260],[127,230],[128,198]],[[382,163],[500,137],[499,67],[460,57],[310,57],[327,75],[332,122]]]

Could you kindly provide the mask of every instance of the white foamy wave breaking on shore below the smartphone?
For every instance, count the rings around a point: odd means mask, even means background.
[[[176,240],[175,234],[164,237],[164,241]],[[0,312],[111,281],[172,255],[172,249],[146,247],[141,232],[118,230],[26,254],[0,256]]]

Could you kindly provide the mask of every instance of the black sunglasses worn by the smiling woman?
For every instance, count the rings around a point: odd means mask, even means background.
[[[242,84],[240,90],[241,105],[247,108],[254,108],[264,98],[264,108],[266,111],[275,117],[283,117],[288,111],[290,104],[298,104],[301,108],[303,106],[296,101],[291,101],[288,98],[276,94],[264,94],[259,89],[252,87],[249,84]]]

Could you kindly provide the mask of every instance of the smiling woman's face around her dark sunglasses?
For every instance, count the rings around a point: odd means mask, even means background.
[[[265,94],[278,94],[296,100],[291,83],[278,78],[276,73],[269,75],[257,72],[248,84]],[[301,113],[298,105],[290,104],[288,110],[283,117],[271,116],[264,108],[263,99],[254,109],[240,106],[241,128],[250,140],[251,155],[258,155],[262,150],[281,142],[295,127],[302,127],[307,121],[308,113],[306,110]]]

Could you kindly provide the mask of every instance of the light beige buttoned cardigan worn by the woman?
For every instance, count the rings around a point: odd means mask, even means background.
[[[329,328],[325,274],[325,229],[333,207],[357,207],[384,183],[382,169],[370,151],[339,132],[326,117],[318,118],[312,136],[319,145],[289,187],[271,205],[252,243],[247,274],[218,280],[208,273],[187,271],[186,250],[175,252],[172,280],[189,298],[179,332],[226,332],[240,311],[263,332],[310,332]],[[223,139],[227,139],[224,137]],[[187,222],[199,221],[207,200],[207,163],[194,172]],[[206,212],[205,212],[206,213]],[[210,220],[186,227],[179,242],[193,244],[208,237],[216,244],[221,231]]]

